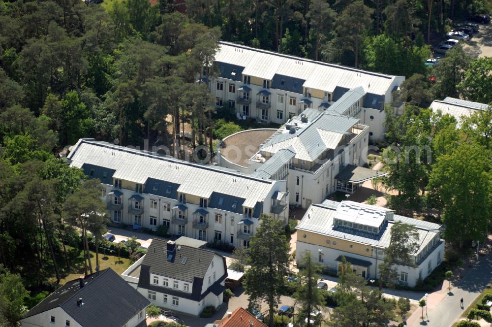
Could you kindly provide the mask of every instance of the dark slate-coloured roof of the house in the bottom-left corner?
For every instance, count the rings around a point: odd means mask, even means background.
[[[79,285],[78,278],[67,282],[23,318],[61,307],[82,327],[123,326],[150,304],[111,268],[88,275],[84,287]],[[80,297],[84,304],[79,307]]]

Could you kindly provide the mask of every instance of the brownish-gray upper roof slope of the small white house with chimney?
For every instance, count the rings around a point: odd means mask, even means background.
[[[150,273],[193,282],[195,277],[203,279],[214,255],[213,251],[181,245],[176,249],[176,259],[170,262],[167,261],[167,242],[154,238],[142,265],[150,266]],[[183,258],[187,258],[185,263],[182,263]]]

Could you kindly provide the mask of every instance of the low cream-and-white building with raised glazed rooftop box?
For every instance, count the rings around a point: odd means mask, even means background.
[[[398,282],[413,287],[443,260],[442,226],[395,215],[387,208],[353,201],[312,204],[297,226],[296,261],[308,251],[313,260],[339,272],[343,256],[358,275],[378,278],[395,222],[412,225],[418,233],[419,247],[411,262],[415,266],[398,266]]]

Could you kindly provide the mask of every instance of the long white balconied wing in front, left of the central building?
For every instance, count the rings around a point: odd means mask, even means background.
[[[189,163],[93,139],[80,139],[71,166],[101,181],[114,223],[249,247],[262,213],[286,224],[286,181]]]

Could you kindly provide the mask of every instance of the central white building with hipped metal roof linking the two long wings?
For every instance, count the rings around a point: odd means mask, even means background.
[[[258,178],[286,180],[289,203],[303,208],[323,202],[335,191],[353,193],[362,182],[386,175],[362,167],[367,158],[369,127],[360,124],[358,118],[338,114],[360,110],[359,91],[347,92],[333,109],[320,112],[308,108],[290,118],[259,146],[241,171]],[[220,151],[218,164],[240,167]]]

